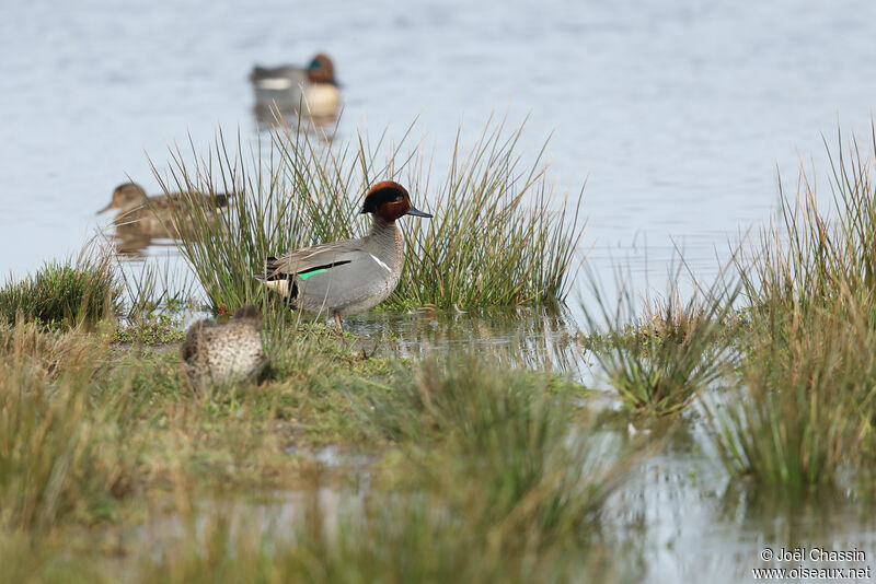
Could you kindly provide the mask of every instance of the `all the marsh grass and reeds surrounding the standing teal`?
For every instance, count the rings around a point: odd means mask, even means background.
[[[647,510],[631,489],[682,443],[712,469],[690,480],[717,476],[706,488],[736,504],[740,491],[775,514],[872,503],[876,145],[831,151],[835,214],[804,180],[784,221],[692,299],[677,285],[647,304],[603,294],[574,330],[550,323],[576,275],[580,199],[555,209],[541,154],[521,166],[518,140],[488,126],[437,186],[405,140],[381,163],[382,140],[325,145],[283,128],[272,153],[252,153],[266,165],[244,168],[221,140],[197,167],[177,155],[169,190],[233,194],[209,233],[178,245],[220,318],[262,306],[261,385],[192,387],[177,349],[191,304],[155,272],[125,279],[90,252],[7,283],[4,574],[641,581]],[[263,295],[251,273],[265,255],[360,234],[356,194],[400,177],[436,214],[407,227],[382,308],[417,309],[415,335],[338,332]],[[198,224],[196,206],[185,212]],[[475,225],[476,240],[459,236]],[[517,344],[430,344],[465,319],[486,335],[484,306],[541,324]]]

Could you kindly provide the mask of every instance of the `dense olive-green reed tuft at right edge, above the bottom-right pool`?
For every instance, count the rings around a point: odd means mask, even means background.
[[[876,397],[876,330],[849,292],[846,309],[805,309],[783,342],[757,339],[742,389],[713,396],[713,442],[731,475],[783,492],[835,484],[866,466]],[[805,316],[804,314],[805,313]]]

